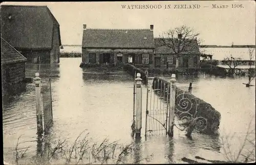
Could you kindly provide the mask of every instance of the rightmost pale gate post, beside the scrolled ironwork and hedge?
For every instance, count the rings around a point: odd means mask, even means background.
[[[174,108],[175,108],[176,76],[172,74],[170,79],[170,106],[169,106],[169,137],[174,136]]]

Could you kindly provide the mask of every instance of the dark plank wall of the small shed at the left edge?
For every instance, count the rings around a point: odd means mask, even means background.
[[[9,77],[9,79],[8,79]],[[25,62],[2,65],[2,89],[25,79]]]

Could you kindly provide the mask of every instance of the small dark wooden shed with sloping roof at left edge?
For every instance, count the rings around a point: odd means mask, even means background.
[[[25,79],[25,62],[27,59],[1,38],[2,95],[8,87]]]

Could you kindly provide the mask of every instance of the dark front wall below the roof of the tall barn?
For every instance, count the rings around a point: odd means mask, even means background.
[[[37,58],[37,63],[50,63],[50,50],[18,50],[24,57],[27,58],[27,63],[35,63],[34,59]]]

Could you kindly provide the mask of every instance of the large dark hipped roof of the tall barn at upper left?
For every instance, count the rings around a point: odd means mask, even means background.
[[[51,49],[53,25],[47,6],[1,5],[1,37],[16,49]]]

